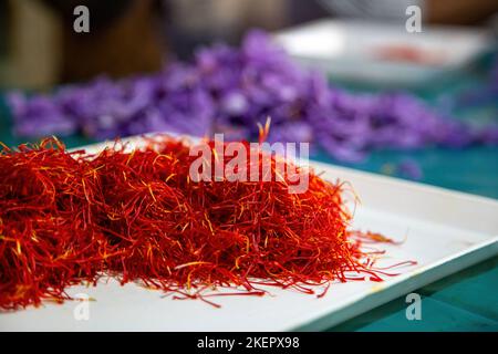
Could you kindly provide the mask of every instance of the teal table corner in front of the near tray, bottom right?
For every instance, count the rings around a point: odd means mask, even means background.
[[[421,321],[406,319],[402,296],[329,331],[498,331],[498,257],[414,292]]]

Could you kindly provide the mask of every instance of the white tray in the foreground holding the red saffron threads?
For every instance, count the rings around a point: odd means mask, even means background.
[[[416,260],[385,282],[332,284],[318,299],[293,290],[269,289],[272,295],[219,296],[220,309],[198,300],[173,300],[163,293],[115,281],[86,293],[89,320],[76,321],[81,302],[0,313],[0,331],[289,331],[325,330],[498,253],[498,201],[442,188],[312,163],[323,177],[349,180],[362,204],[354,227],[406,242],[381,246],[386,264]]]

